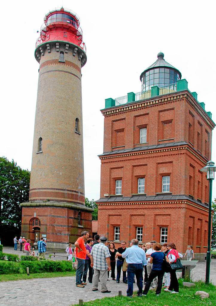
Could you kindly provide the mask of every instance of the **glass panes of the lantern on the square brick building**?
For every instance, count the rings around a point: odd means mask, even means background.
[[[159,88],[176,83],[180,80],[179,73],[171,68],[154,68],[146,71],[142,76],[142,91],[151,89],[152,86]]]

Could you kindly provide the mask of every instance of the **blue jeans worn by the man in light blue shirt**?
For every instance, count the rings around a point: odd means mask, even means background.
[[[127,296],[133,295],[133,288],[134,288],[134,275],[136,275],[137,279],[137,287],[138,292],[137,294],[142,294],[142,272],[143,267],[142,263],[129,263],[127,267]]]

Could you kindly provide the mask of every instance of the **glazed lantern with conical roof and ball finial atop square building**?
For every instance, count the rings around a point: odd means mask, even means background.
[[[157,54],[157,61],[145,69],[141,75],[142,91],[150,90],[152,86],[159,88],[174,84],[181,79],[181,73],[164,59],[164,54]]]

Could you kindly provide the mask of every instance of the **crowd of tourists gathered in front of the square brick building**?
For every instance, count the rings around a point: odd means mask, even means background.
[[[72,244],[69,244],[66,249],[68,260],[71,260],[74,254],[77,262],[77,287],[85,288],[89,271],[88,281],[93,283],[92,290],[97,291],[98,282],[100,282],[101,292],[109,293],[111,291],[107,288],[107,281],[110,272],[112,280],[119,283],[121,271],[123,271],[123,282],[128,285],[128,297],[133,295],[135,280],[138,286],[138,297],[145,297],[151,286],[156,289],[156,296],[159,296],[163,279],[165,292],[179,293],[176,270],[182,267],[179,258],[183,258],[183,255],[176,250],[173,242],[161,245],[156,241],[150,241],[140,245],[137,239],[132,239],[129,248],[126,248],[126,241],[122,241],[121,247],[116,249],[114,241],[110,241],[106,246],[106,237],[95,235],[94,238],[93,241],[92,238],[89,238],[89,233],[83,231],[81,237],[75,242],[74,252]],[[85,240],[87,244],[85,244]],[[188,260],[194,258],[190,246],[184,256],[187,256]],[[117,275],[115,277],[116,266]],[[145,271],[144,279],[143,271]],[[145,285],[144,290],[143,285]]]

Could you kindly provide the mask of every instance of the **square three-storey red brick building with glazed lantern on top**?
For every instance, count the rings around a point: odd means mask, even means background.
[[[181,73],[164,60],[140,76],[142,91],[106,99],[98,233],[207,251],[208,181],[214,122]],[[212,212],[213,213],[213,212]]]

